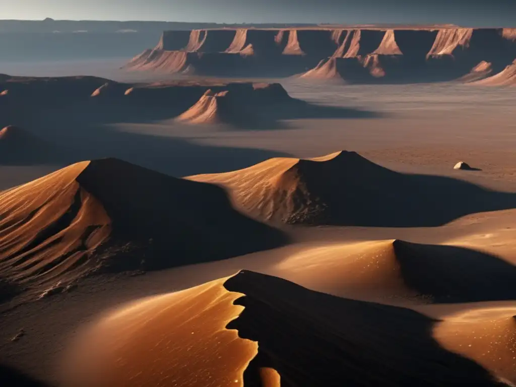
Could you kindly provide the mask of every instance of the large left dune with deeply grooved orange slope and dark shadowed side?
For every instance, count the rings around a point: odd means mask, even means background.
[[[220,188],[117,159],[74,164],[2,192],[0,201],[0,278],[34,291],[92,272],[224,259],[283,240],[234,211]]]

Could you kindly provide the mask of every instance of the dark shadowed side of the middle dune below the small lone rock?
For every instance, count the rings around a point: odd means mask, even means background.
[[[443,176],[392,171],[355,152],[326,162],[301,160],[298,174],[320,205],[295,222],[363,227],[435,227],[459,217],[516,208],[516,194],[491,191]],[[304,202],[303,202],[304,200]]]

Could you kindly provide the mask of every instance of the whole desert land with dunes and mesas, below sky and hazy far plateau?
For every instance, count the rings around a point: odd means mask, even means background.
[[[515,39],[166,31],[0,65],[0,380],[514,385]]]

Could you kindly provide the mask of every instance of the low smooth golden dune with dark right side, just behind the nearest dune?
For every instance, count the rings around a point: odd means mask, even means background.
[[[455,246],[402,240],[328,243],[302,249],[271,273],[336,296],[385,303],[513,300],[516,269],[504,260]]]

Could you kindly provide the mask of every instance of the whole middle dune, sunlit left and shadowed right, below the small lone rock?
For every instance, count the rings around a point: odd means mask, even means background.
[[[346,151],[306,160],[275,158],[188,179],[228,188],[233,201],[254,217],[294,224],[437,226],[516,205],[509,193],[439,176],[397,173]]]

